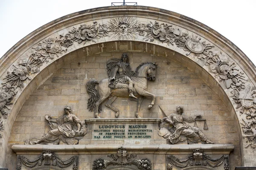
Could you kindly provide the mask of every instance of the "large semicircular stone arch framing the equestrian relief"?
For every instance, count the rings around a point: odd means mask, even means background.
[[[115,22],[130,26],[125,36],[117,29],[118,24],[111,25]],[[86,26],[80,26],[84,24]],[[147,33],[149,36],[146,36]],[[138,43],[132,46],[134,41]],[[250,95],[256,85],[256,70],[253,63],[232,42],[198,21],[158,8],[122,6],[95,8],[59,18],[23,38],[0,59],[0,79],[2,83],[7,83],[7,90],[4,91],[11,92],[8,85],[13,87],[16,83],[12,80],[14,74],[17,74],[15,78],[18,77],[20,80],[17,82],[21,83],[19,86],[23,86],[21,89],[15,89],[16,94],[13,93],[9,97],[13,105],[2,104],[9,106],[10,110],[3,108],[3,111],[10,114],[8,119],[2,118],[5,127],[2,132],[1,158],[6,158],[12,124],[32,91],[58,68],[70,62],[72,56],[79,53],[88,56],[106,49],[143,51],[166,56],[166,59],[177,60],[198,73],[209,82],[210,87],[218,93],[233,113],[239,132],[240,147],[241,150],[244,149],[239,124],[242,117],[234,102],[236,94],[230,93],[233,80],[227,77],[226,72],[233,69],[236,73],[231,77],[239,74],[239,81],[236,82],[241,81],[244,84],[237,83],[234,88],[240,91],[243,90],[241,85],[249,83],[251,88],[245,95]],[[41,60],[38,60],[40,57]],[[221,62],[212,60],[214,57]],[[217,64],[218,67],[224,65],[224,68],[214,68]],[[10,74],[11,72],[14,74]],[[223,76],[218,76],[220,74]],[[241,153],[243,154],[243,151]],[[244,158],[242,161],[250,159],[245,157],[241,156]],[[0,164],[4,167],[5,159],[1,159]]]

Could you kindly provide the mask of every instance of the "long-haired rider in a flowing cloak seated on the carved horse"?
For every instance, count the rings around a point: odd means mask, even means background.
[[[117,82],[128,84],[129,97],[137,99],[133,95],[133,81],[131,77],[134,76],[134,72],[131,71],[131,66],[128,61],[128,54],[122,54],[121,59],[110,59],[107,62],[108,77],[109,77],[109,87],[115,88]]]

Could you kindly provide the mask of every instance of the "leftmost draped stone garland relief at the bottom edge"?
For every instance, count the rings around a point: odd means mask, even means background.
[[[29,160],[25,156],[17,156],[17,167],[16,170],[21,170],[22,166],[32,168],[31,170],[45,170],[45,169],[54,169],[54,170],[66,170],[70,169],[72,166],[73,170],[78,170],[79,158],[78,156],[72,156],[67,160],[61,160],[55,152],[51,150],[43,151],[35,159]],[[34,168],[33,168],[34,167]]]

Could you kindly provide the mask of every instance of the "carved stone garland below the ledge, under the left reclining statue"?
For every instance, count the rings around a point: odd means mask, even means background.
[[[78,156],[72,156],[70,159],[63,161],[59,159],[53,151],[45,150],[33,160],[29,160],[25,156],[17,156],[16,170],[21,170],[22,164],[25,165],[26,167],[35,167],[36,165],[42,166],[43,161],[44,165],[48,166],[58,166],[61,168],[65,168],[73,164],[73,170],[77,170],[78,168]]]

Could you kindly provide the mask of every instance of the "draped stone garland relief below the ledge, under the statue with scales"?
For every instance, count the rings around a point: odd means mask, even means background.
[[[175,167],[175,170],[186,170],[186,167],[191,167],[189,170],[192,170],[192,168],[200,170],[230,170],[228,155],[222,155],[219,158],[213,159],[200,149],[193,150],[186,159],[178,159],[173,155],[168,155],[166,157],[166,161],[166,170],[172,170],[173,167]]]

